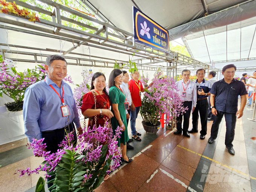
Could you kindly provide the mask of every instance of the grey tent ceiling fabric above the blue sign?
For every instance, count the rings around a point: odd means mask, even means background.
[[[111,23],[133,33],[132,6],[138,8],[167,30],[202,18],[205,2],[208,13],[221,11],[245,0],[87,0]],[[136,4],[134,4],[134,3]]]

